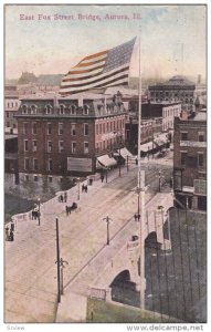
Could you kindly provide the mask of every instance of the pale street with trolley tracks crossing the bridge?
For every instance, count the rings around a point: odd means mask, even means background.
[[[147,165],[148,167],[148,165]],[[154,176],[156,168],[147,170]],[[147,177],[146,176],[146,177]],[[116,178],[116,179],[115,179]],[[81,193],[78,209],[66,216],[65,203],[53,198],[41,206],[41,226],[38,220],[18,221],[14,242],[6,242],[6,321],[52,322],[56,302],[56,248],[55,218],[60,224],[61,257],[68,261],[65,267],[66,286],[106,243],[107,215],[110,238],[122,229],[137,211],[137,169],[126,167],[108,175],[108,183],[96,180],[88,193]],[[152,186],[154,187],[154,186]],[[70,194],[71,193],[71,194]],[[77,200],[77,186],[70,190],[67,205]],[[146,201],[155,195],[146,194]],[[114,238],[117,240],[117,237]]]

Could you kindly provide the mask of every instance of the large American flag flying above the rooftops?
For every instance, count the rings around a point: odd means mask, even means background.
[[[128,84],[136,38],[114,49],[85,56],[62,79],[62,96],[91,89]]]

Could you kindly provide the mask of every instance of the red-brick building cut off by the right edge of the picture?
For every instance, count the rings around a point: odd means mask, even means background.
[[[207,209],[207,113],[175,121],[173,189],[177,201]]]

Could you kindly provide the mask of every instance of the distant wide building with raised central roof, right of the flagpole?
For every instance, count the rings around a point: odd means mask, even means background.
[[[194,90],[196,84],[180,75],[148,87],[151,102],[180,102],[182,111],[188,112],[193,111]]]

